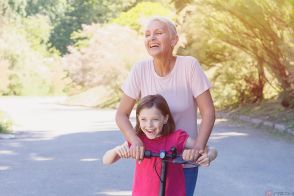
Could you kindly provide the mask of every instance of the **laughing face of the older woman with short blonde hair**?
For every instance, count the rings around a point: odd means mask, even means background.
[[[172,38],[165,23],[155,20],[148,24],[145,47],[152,57],[172,52]]]

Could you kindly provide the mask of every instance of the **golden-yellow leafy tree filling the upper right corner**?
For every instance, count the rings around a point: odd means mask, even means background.
[[[252,65],[258,70],[261,92],[266,67],[283,89],[282,104],[294,107],[293,5],[289,1],[230,0],[224,4],[220,0],[207,0],[185,4],[189,5],[201,12],[210,36],[255,60]]]

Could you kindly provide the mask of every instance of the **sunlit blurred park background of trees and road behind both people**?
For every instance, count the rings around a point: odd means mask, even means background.
[[[131,195],[134,162],[101,157],[124,140],[115,108],[132,65],[149,58],[142,25],[153,15],[175,22],[176,54],[197,58],[213,84],[219,156],[200,169],[197,195],[294,195],[293,8],[0,0],[0,195]]]

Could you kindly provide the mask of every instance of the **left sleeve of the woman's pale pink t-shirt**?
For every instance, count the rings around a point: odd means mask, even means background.
[[[140,98],[140,65],[135,64],[122,86],[122,91],[129,97],[138,100]]]

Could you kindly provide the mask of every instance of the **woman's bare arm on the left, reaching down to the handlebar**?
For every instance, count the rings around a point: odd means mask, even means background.
[[[144,157],[144,146],[140,138],[136,135],[134,128],[129,120],[132,109],[136,103],[135,99],[123,94],[119,103],[115,121],[126,140],[131,143],[130,154],[137,160],[142,160]]]

